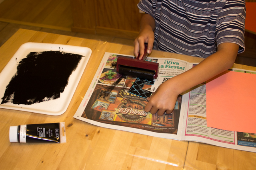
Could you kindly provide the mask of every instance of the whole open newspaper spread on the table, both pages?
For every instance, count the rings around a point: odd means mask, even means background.
[[[145,112],[146,98],[128,92],[136,77],[116,72],[116,60],[121,56],[134,58],[105,53],[74,118],[111,129],[256,152],[256,134],[207,127],[205,83],[180,94],[170,114],[158,116]],[[152,93],[166,80],[198,64],[171,58],[148,57],[146,60],[157,62],[160,67],[154,84],[146,84],[142,88]],[[233,71],[256,74],[236,68]]]

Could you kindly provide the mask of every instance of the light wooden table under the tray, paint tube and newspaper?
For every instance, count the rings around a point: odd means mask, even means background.
[[[92,55],[67,111],[59,116],[0,109],[0,170],[242,170],[255,169],[256,153],[203,143],[162,139],[106,129],[73,118],[105,52],[133,55],[133,47],[52,33],[19,29],[0,47],[0,71],[26,42],[89,47]],[[153,51],[154,57],[200,62],[190,57]],[[256,70],[254,67],[234,65]],[[34,123],[66,123],[67,143],[9,142],[9,127]]]

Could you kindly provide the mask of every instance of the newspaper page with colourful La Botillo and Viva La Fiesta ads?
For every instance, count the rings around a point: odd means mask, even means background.
[[[144,107],[148,103],[146,98],[128,92],[136,78],[116,72],[116,61],[121,56],[134,57],[105,53],[74,117],[101,127],[180,140],[183,122],[183,115],[180,116],[182,95],[178,96],[171,114],[158,116],[145,112]],[[159,76],[154,84],[145,84],[142,87],[142,90],[153,93],[162,82],[185,72],[189,65],[185,61],[169,58],[146,60],[157,62],[160,66]]]

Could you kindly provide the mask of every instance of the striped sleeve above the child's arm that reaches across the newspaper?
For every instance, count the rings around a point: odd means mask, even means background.
[[[245,1],[230,0],[220,11],[216,20],[215,37],[217,46],[220,43],[236,43],[238,53],[244,52]]]

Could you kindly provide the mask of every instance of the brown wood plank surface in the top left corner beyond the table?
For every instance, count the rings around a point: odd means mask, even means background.
[[[0,21],[71,31],[70,0],[4,0]]]

